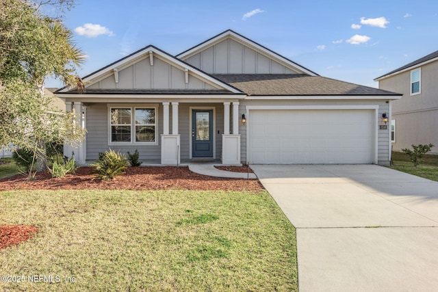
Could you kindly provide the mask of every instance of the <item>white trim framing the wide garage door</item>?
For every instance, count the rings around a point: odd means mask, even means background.
[[[289,106],[278,106],[278,105],[250,105],[246,106],[246,163],[252,161],[251,157],[251,143],[250,143],[250,127],[251,127],[251,110],[336,110],[336,109],[370,109],[374,110],[374,155],[372,155],[372,163],[378,164],[378,105],[289,105]]]

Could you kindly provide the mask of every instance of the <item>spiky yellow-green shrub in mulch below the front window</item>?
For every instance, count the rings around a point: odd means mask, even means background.
[[[90,167],[93,168],[91,173],[96,174],[94,179],[107,181],[124,174],[128,164],[124,155],[110,149],[102,155],[99,153],[99,159],[90,163]]]

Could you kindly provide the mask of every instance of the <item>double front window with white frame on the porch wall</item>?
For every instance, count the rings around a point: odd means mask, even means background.
[[[110,142],[155,144],[157,141],[155,114],[155,107],[112,107]]]

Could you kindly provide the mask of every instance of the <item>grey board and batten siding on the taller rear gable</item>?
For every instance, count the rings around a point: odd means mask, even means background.
[[[297,74],[291,68],[231,38],[184,61],[209,74]]]

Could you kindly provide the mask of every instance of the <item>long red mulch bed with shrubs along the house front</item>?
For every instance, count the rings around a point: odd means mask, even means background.
[[[226,190],[261,191],[263,187],[257,180],[240,178],[216,178],[190,172],[188,168],[144,167],[127,168],[123,176],[114,180],[93,180],[91,168],[79,168],[76,174],[64,178],[52,178],[49,172],[36,175],[34,181],[28,181],[23,174],[17,174],[0,180],[0,191],[13,189],[188,189],[188,190]]]

